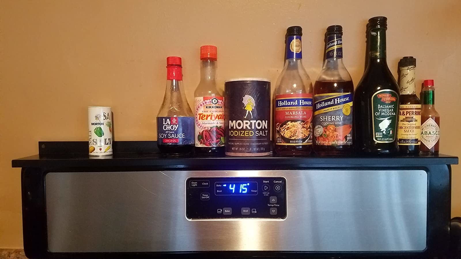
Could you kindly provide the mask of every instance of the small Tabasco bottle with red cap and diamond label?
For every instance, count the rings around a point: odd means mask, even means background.
[[[434,106],[434,80],[424,80],[421,111],[421,153],[438,154],[440,116]]]

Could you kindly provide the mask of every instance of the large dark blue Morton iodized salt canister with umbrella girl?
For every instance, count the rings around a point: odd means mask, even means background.
[[[225,154],[269,155],[271,82],[264,78],[226,80],[225,98]]]

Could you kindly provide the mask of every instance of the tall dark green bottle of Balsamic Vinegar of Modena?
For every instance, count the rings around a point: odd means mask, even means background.
[[[368,62],[354,94],[353,143],[359,153],[394,154],[400,90],[386,62],[387,18],[368,23]]]

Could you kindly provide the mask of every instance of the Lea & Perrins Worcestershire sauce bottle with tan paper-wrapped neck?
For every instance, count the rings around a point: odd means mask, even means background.
[[[397,138],[399,152],[419,154],[421,143],[421,103],[416,96],[416,59],[403,57],[399,61],[400,105]]]

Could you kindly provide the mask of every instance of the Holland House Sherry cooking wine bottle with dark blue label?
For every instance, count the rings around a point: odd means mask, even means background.
[[[343,27],[325,33],[325,62],[313,90],[314,151],[321,155],[352,152],[354,84],[343,64]]]

